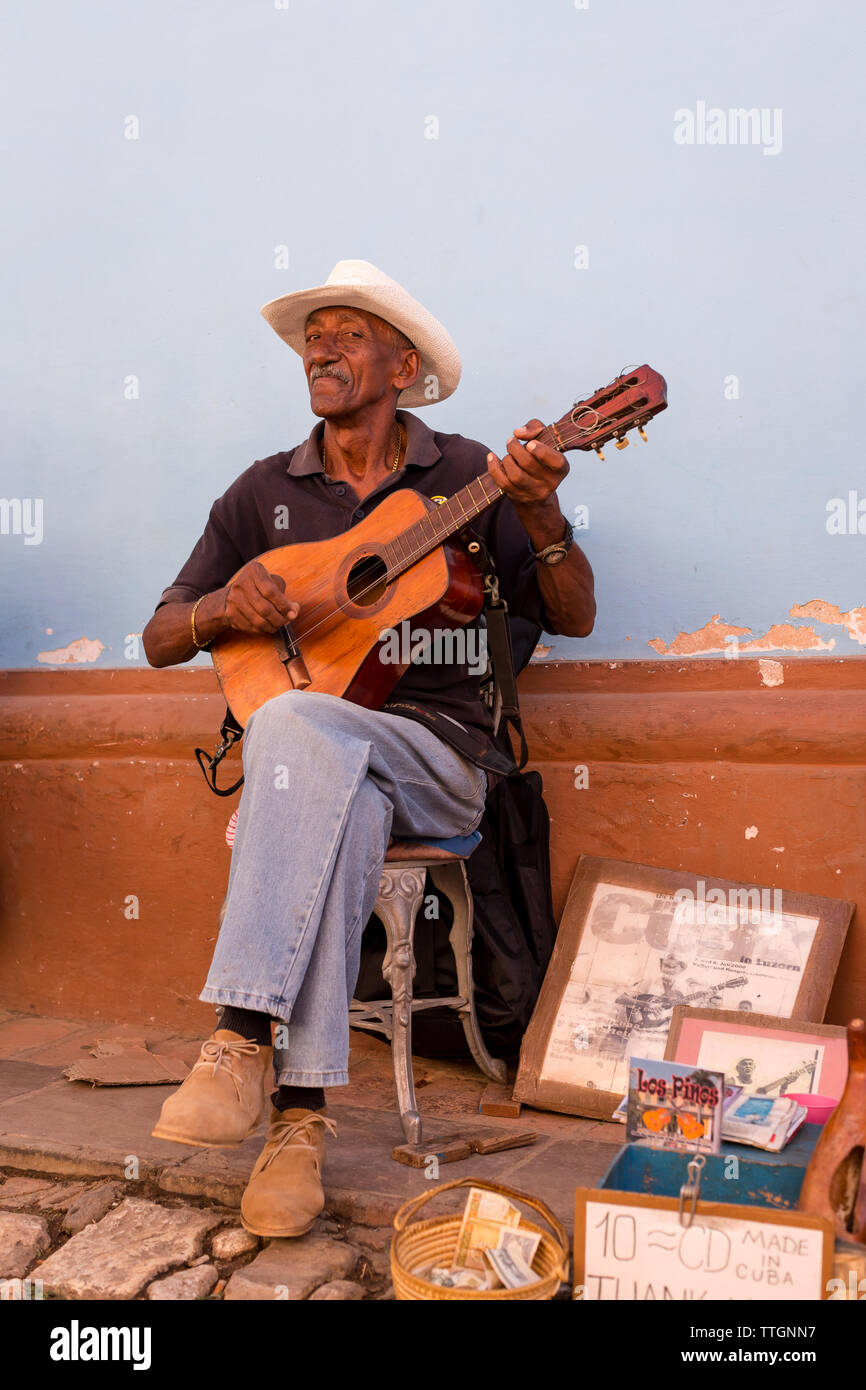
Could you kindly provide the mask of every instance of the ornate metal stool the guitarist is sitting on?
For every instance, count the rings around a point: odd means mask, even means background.
[[[473,894],[466,876],[466,860],[478,844],[478,833],[456,840],[421,844],[398,840],[388,847],[379,894],[374,912],[385,927],[386,951],[382,974],[391,986],[389,999],[353,999],[349,1024],[370,1029],[391,1038],[393,1079],[403,1133],[410,1144],[421,1143],[421,1116],[416,1102],[411,1070],[411,1015],[421,1009],[450,1008],[459,1015],[470,1051],[492,1081],[505,1081],[505,1062],[492,1058],[475,1017],[473,990]],[[450,998],[413,999],[416,973],[413,949],[414,923],[424,901],[427,872],[450,901],[455,920],[449,933],[457,967],[459,994]]]

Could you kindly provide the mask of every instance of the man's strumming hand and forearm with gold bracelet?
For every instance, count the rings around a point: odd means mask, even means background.
[[[152,666],[189,662],[200,648],[192,641],[192,603],[165,603],[142,634]],[[199,642],[232,628],[236,632],[277,632],[297,617],[297,603],[286,595],[285,581],[270,574],[260,560],[250,560],[221,589],[207,594],[196,609]]]

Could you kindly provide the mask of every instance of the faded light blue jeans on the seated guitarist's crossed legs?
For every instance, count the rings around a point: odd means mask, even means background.
[[[475,828],[487,777],[414,720],[288,691],[250,717],[222,927],[200,998],[288,1024],[286,1086],[348,1086],[349,1004],[389,835]]]

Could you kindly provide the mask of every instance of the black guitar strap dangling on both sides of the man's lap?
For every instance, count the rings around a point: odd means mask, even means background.
[[[491,667],[484,698],[491,708],[493,734],[503,733],[509,727],[517,734],[520,739],[520,762],[516,762],[513,756],[509,756],[503,751],[503,745],[509,739],[500,739],[499,746],[493,746],[481,730],[464,728],[463,724],[439,713],[439,710],[425,709],[423,705],[414,705],[410,701],[386,701],[382,709],[399,712],[407,719],[427,724],[443,742],[450,744],[452,748],[456,748],[464,758],[468,758],[477,767],[482,767],[484,771],[499,777],[513,777],[514,773],[523,771],[530,752],[517,699],[509,606],[499,592],[499,580],[496,578],[496,569],[489,550],[478,535],[471,531],[468,535],[473,545],[470,555],[481,570],[484,582],[484,614]],[[474,549],[475,546],[477,549]],[[214,753],[209,755],[204,748],[195,749],[196,762],[202,769],[204,781],[217,796],[234,796],[238,788],[243,785],[243,776],[232,783],[231,787],[217,785],[217,769],[220,763],[242,737],[243,728],[227,706],[225,719],[220,726],[220,742]]]

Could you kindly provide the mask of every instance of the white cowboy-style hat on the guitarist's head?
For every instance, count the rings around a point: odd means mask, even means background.
[[[314,309],[327,304],[348,304],[378,314],[406,334],[413,348],[418,349],[421,374],[414,386],[400,393],[398,404],[430,406],[457,389],[460,353],[450,334],[396,279],[370,261],[338,261],[324,285],[271,299],[261,314],[274,332],[303,356],[304,324]]]

